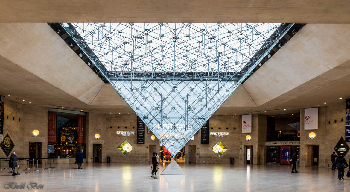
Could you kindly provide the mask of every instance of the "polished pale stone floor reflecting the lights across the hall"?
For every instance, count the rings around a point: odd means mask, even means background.
[[[187,173],[179,179],[160,175],[166,163],[160,166],[158,179],[151,178],[150,164],[90,163],[77,169],[74,164],[55,165],[56,169],[11,176],[9,170],[0,171],[0,191],[50,192],[341,192],[350,191],[350,178],[338,180],[337,172],[318,167],[297,167],[300,173],[290,173],[288,165],[229,165],[179,163]],[[178,181],[177,181],[178,180]],[[174,182],[173,182],[174,181]],[[172,182],[169,183],[168,182]],[[37,183],[43,189],[5,189],[8,183]],[[29,187],[30,188],[30,187]]]

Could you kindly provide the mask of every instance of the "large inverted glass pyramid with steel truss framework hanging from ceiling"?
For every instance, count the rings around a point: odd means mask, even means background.
[[[173,156],[293,26],[61,25]]]

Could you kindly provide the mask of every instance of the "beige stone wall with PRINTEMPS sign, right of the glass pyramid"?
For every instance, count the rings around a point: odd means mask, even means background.
[[[188,162],[189,145],[196,145],[196,163],[230,163],[230,158],[235,158],[237,164],[245,164],[246,146],[253,145],[253,164],[264,163],[265,152],[260,150],[260,146],[265,149],[266,140],[266,116],[254,114],[252,116],[252,132],[242,133],[241,128],[242,117],[235,116],[212,116],[209,119],[209,132],[229,132],[229,136],[215,137],[209,136],[209,145],[201,145],[201,131],[195,134],[195,139],[189,141],[185,146],[186,159]],[[211,129],[211,127],[213,129]],[[220,130],[218,128],[221,128]],[[226,130],[226,127],[229,128]],[[233,128],[236,128],[234,130]],[[251,140],[246,140],[246,135],[251,135]],[[218,141],[221,141],[229,148],[221,157],[210,150],[210,148]],[[240,149],[242,146],[242,149]]]

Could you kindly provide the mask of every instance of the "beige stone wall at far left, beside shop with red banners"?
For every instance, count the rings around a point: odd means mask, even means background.
[[[16,103],[7,99],[5,99],[4,107],[3,136],[5,137],[8,133],[15,144],[13,151],[16,152],[16,155],[29,157],[29,142],[42,142],[42,158],[46,158],[47,108]],[[39,131],[37,137],[32,134],[34,129]],[[6,157],[1,149],[0,157]]]

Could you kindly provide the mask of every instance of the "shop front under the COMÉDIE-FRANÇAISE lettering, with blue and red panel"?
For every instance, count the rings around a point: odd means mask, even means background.
[[[265,142],[265,145],[266,164],[290,165],[294,151],[300,152],[300,141]]]

